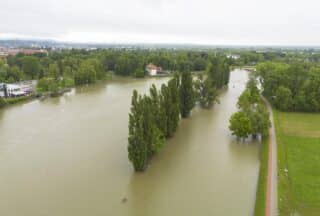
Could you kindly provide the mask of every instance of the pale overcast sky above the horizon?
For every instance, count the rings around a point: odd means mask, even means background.
[[[320,45],[317,0],[0,0],[0,38]]]

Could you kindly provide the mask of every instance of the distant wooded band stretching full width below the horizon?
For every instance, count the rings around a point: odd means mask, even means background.
[[[168,71],[203,71],[218,55],[234,54],[227,58],[232,65],[256,65],[273,61],[320,62],[316,50],[245,50],[245,49],[71,49],[49,51],[48,54],[19,53],[0,59],[0,82],[12,83],[28,79],[53,79],[58,75],[69,84],[87,84],[104,79],[110,71],[118,75],[143,77],[145,66],[153,63]],[[51,68],[51,69],[50,69]],[[60,84],[60,83],[59,83]]]

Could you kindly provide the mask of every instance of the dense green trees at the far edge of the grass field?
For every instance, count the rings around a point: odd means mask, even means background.
[[[306,62],[257,66],[263,95],[281,111],[320,112],[320,67]]]

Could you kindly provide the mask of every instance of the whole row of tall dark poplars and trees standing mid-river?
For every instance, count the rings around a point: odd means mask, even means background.
[[[134,90],[129,113],[128,158],[135,171],[144,171],[149,161],[176,132],[180,118],[190,116],[197,103],[209,108],[217,102],[217,89],[228,84],[229,66],[216,58],[205,75],[194,80],[190,70],[175,73],[160,90],[152,85],[149,95]]]

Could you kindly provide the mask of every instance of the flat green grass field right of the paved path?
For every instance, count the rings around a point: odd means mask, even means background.
[[[320,114],[274,111],[280,215],[320,215]]]

